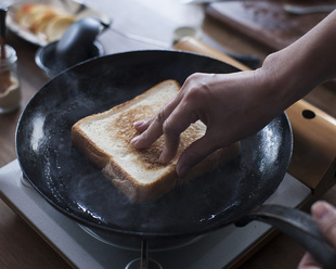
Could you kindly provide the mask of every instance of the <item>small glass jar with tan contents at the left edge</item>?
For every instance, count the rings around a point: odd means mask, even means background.
[[[4,52],[4,59],[0,57],[0,114],[15,111],[21,102],[16,51],[5,44]],[[2,55],[1,48],[0,55]]]

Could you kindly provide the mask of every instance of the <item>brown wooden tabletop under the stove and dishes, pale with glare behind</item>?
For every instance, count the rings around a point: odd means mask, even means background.
[[[131,34],[120,36],[107,30],[100,37],[105,53],[137,49],[161,49],[148,40],[139,41],[137,36],[171,44],[173,29],[192,25],[203,29],[202,39],[214,48],[237,54],[258,55],[261,61],[271,51],[249,40],[231,28],[205,16],[204,7],[181,5],[179,0],[96,0],[91,5],[111,15],[113,27]],[[92,3],[91,3],[92,2]],[[134,36],[135,35],[135,36]],[[131,39],[130,39],[131,38]],[[0,167],[15,159],[15,128],[23,107],[49,78],[35,64],[37,47],[13,34],[8,43],[18,55],[23,101],[21,108],[12,114],[0,115]],[[336,116],[335,89],[320,87],[307,100]],[[336,205],[336,189],[331,189],[324,198]],[[280,234],[268,247],[259,251],[242,268],[296,268],[303,249],[287,236]],[[0,268],[69,268],[57,254],[30,229],[15,213],[0,201]]]

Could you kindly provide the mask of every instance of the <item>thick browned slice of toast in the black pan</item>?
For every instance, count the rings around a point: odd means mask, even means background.
[[[176,174],[179,155],[193,141],[204,136],[206,126],[202,121],[192,124],[181,134],[178,154],[168,165],[158,162],[164,146],[163,137],[144,150],[135,150],[130,144],[132,138],[139,134],[133,123],[154,116],[179,90],[180,86],[176,80],[165,80],[109,111],[80,119],[72,128],[75,146],[103,168],[112,182],[131,201],[157,198],[177,184],[227,163],[240,152],[238,143],[218,150],[196,165],[185,178],[179,178]]]

